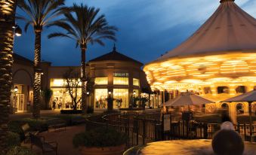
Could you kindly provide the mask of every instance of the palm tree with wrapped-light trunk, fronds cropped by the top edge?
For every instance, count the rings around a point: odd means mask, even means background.
[[[32,26],[35,32],[35,59],[34,59],[34,82],[33,82],[33,112],[32,117],[40,117],[40,90],[41,90],[41,34],[43,28],[53,23],[55,17],[63,11],[65,0],[20,0],[18,7],[26,16],[17,17],[26,22],[25,32]]]

